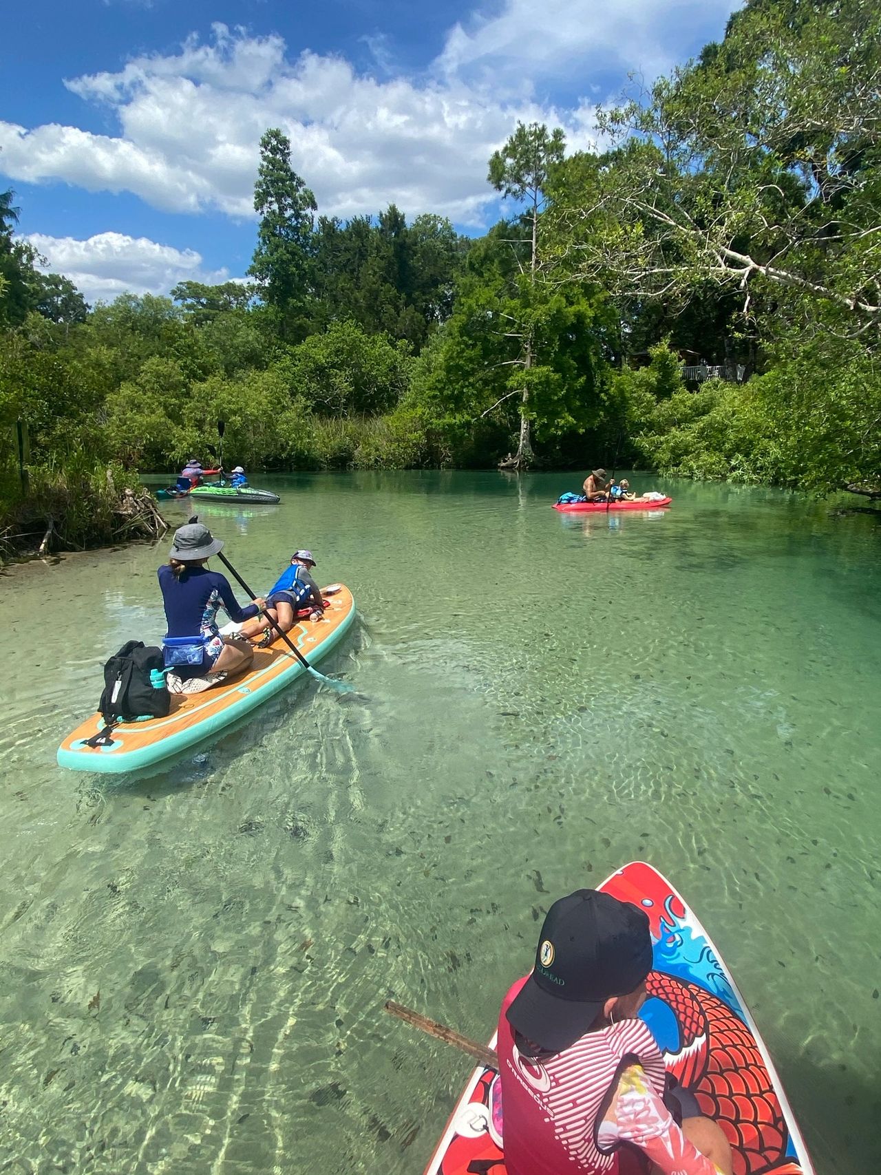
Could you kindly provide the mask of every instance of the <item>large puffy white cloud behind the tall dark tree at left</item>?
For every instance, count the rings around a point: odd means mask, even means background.
[[[563,123],[583,141],[585,113],[556,112],[527,93],[499,99],[455,79],[377,81],[341,58],[285,58],[280,38],[215,28],[175,56],[130,61],[68,88],[109,106],[120,134],[0,122],[0,168],[12,180],[62,180],[132,192],[167,212],[254,215],[260,136],[289,135],[292,162],[322,213],[351,216],[396,202],[479,226],[493,194],[489,156],[517,119]]]

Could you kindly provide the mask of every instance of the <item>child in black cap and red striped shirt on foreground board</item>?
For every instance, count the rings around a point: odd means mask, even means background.
[[[498,1022],[509,1175],[732,1175],[721,1127],[666,1074],[638,1019],[651,969],[644,911],[596,889],[551,906]],[[634,1147],[648,1166],[630,1162]]]

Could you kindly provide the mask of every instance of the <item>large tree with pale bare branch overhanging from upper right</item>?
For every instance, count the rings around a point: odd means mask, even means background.
[[[752,0],[697,62],[604,110],[617,149],[556,202],[574,273],[673,304],[713,283],[798,329],[876,333],[880,45],[862,0]]]

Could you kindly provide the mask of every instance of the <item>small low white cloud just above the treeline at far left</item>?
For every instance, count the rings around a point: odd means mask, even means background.
[[[147,237],[99,233],[86,241],[32,233],[26,237],[48,264],[82,291],[87,302],[110,302],[120,294],[167,294],[182,281],[224,282],[226,269],[206,271],[194,249],[175,249]]]

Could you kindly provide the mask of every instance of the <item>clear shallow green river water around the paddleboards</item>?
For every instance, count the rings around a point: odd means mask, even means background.
[[[489,1036],[547,905],[641,857],[818,1169],[877,1170],[881,529],[687,483],[610,523],[549,509],[565,475],[264,481],[200,512],[260,589],[296,545],[351,585],[359,692],[294,686],[148,779],[55,748],[161,636],[167,544],[0,577],[0,1169],[418,1175],[469,1062],[383,1001]]]

